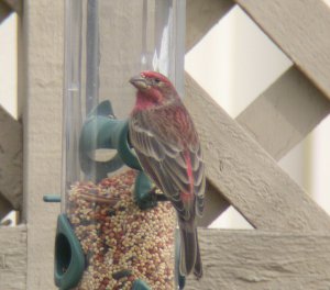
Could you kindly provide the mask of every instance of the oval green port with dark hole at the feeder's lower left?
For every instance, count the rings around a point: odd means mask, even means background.
[[[85,256],[68,219],[59,214],[55,239],[55,285],[61,290],[75,288],[85,270]]]

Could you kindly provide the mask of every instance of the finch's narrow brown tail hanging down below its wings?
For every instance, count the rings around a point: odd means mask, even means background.
[[[180,231],[180,274],[188,276],[193,270],[197,278],[202,276],[196,223],[179,219]]]

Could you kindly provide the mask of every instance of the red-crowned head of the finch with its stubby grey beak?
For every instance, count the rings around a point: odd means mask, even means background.
[[[130,82],[138,89],[138,98],[153,104],[164,104],[178,98],[172,82],[162,74],[151,70],[132,77]]]

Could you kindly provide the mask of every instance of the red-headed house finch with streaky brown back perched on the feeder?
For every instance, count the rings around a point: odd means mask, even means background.
[[[202,266],[196,231],[201,216],[205,166],[191,118],[170,81],[155,71],[130,79],[138,89],[129,121],[129,137],[144,172],[177,211],[180,231],[180,274],[200,278]]]

